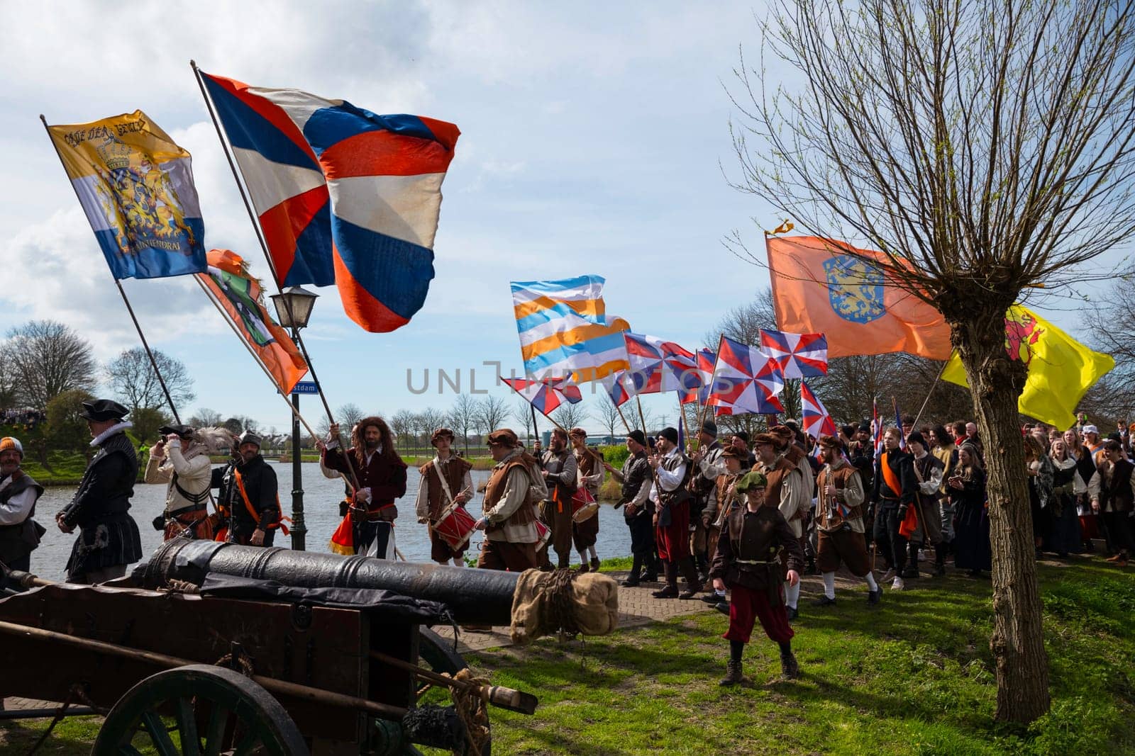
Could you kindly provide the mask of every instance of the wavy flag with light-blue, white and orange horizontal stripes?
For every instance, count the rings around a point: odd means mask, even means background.
[[[604,279],[579,275],[558,281],[512,281],[520,352],[529,377],[595,381],[625,371],[621,317],[608,317]]]

